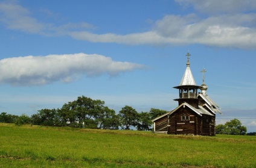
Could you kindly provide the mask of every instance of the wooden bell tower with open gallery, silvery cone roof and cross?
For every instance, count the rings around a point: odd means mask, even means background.
[[[190,53],[188,52],[186,56],[187,56],[187,67],[185,69],[184,75],[181,79],[179,86],[173,87],[175,89],[179,89],[179,98],[174,99],[174,101],[178,101],[179,105],[181,105],[184,102],[187,102],[188,104],[197,108],[198,106],[197,89],[199,89],[200,86],[196,85],[193,74],[190,70],[190,58],[189,58]]]

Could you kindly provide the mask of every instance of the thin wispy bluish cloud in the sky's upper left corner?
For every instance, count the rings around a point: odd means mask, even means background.
[[[49,10],[40,10],[53,17]],[[94,29],[94,26],[82,23],[66,23],[56,26],[52,23],[41,23],[34,19],[32,13],[27,8],[16,4],[13,1],[0,2],[0,22],[4,23],[8,29],[20,30],[25,33],[42,34],[45,36],[66,35],[66,31]]]

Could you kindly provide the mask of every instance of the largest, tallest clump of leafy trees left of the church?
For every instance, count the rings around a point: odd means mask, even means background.
[[[104,101],[93,100],[85,96],[75,101],[65,103],[57,110],[42,109],[31,116],[31,122],[36,125],[69,125],[85,128],[111,128],[118,129],[119,116],[114,110],[104,107]]]

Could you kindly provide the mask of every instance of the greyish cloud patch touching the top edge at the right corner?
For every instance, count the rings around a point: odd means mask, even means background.
[[[256,9],[254,0],[175,0],[202,13],[237,13]]]

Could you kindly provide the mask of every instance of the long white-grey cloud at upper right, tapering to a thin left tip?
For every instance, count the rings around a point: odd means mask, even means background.
[[[152,31],[126,35],[92,34],[88,31],[70,32],[75,39],[89,42],[126,43],[130,45],[182,45],[203,44],[231,48],[255,48],[256,29],[250,24],[256,14],[240,14],[199,19],[188,16],[168,15],[157,20]],[[228,20],[228,21],[226,21]],[[248,26],[243,26],[248,25]]]

